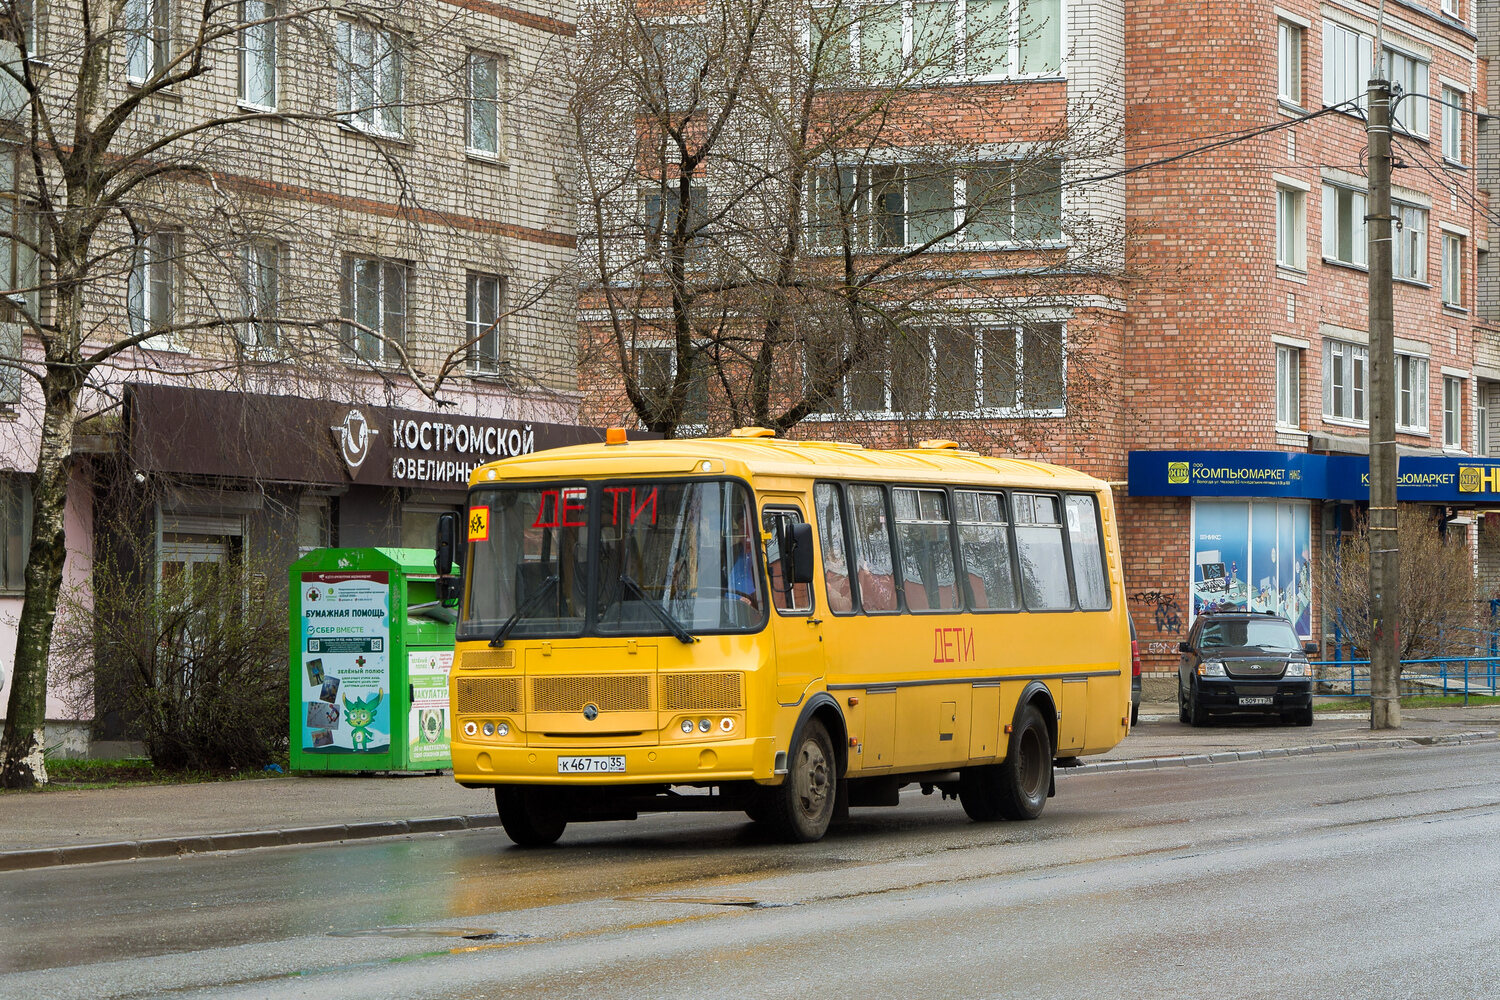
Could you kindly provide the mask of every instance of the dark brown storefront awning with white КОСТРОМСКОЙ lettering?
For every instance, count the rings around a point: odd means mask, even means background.
[[[460,490],[486,462],[604,439],[597,427],[298,396],[132,385],[126,400],[135,466],[180,475]]]

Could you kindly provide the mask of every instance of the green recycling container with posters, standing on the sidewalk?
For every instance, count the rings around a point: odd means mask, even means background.
[[[315,549],[290,570],[291,769],[442,771],[453,609],[432,549]]]

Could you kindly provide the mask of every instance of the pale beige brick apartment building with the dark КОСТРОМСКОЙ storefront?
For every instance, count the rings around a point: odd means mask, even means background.
[[[39,100],[66,123],[82,9],[14,9]],[[96,39],[114,31],[111,106],[172,72],[201,16],[166,0],[112,10],[123,24],[98,12],[93,22]],[[573,426],[576,298],[558,280],[574,243],[567,93],[550,61],[572,43],[572,4],[248,1],[213,16],[243,21],[204,51],[206,73],[147,96],[117,144],[140,150],[177,127],[248,118],[195,148],[201,172],[126,204],[134,235],[126,213],[100,226],[98,252],[116,264],[88,288],[90,336],[178,331],[128,348],[84,390],[86,412],[100,415],[74,439],[64,586],[86,585],[96,552],[116,544],[102,514],[130,505],[154,550],[150,574],[190,576],[238,553],[274,573],[327,544],[430,547],[436,514],[464,502],[468,468],[585,433]],[[16,45],[0,46],[20,66]],[[6,109],[27,100],[9,84]],[[16,223],[38,210],[22,132],[0,133],[15,138],[9,157],[0,147],[12,237],[0,283],[14,289],[0,324],[6,660],[42,355],[16,310],[44,328],[57,315],[46,247],[39,255]],[[230,222],[213,228],[220,216]],[[256,319],[212,325],[242,313]],[[436,394],[424,393],[446,366]],[[50,738],[81,738],[57,694]]]

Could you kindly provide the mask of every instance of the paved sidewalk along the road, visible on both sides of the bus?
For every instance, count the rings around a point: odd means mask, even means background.
[[[1170,709],[1170,712],[1167,711]],[[1320,714],[1311,729],[1226,724],[1191,729],[1172,705],[1142,705],[1119,747],[1086,757],[1089,774],[1228,763],[1257,757],[1494,741],[1500,706],[1402,712],[1372,733],[1356,714]],[[207,784],[8,793],[0,796],[0,871],[164,858],[495,826],[495,801],[442,775],[315,775]]]

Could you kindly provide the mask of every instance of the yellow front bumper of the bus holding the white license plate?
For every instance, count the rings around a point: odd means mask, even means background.
[[[724,781],[770,781],[774,744],[738,739],[712,744],[657,747],[477,747],[453,742],[453,780],[464,786],[628,786],[628,784],[718,784]],[[579,759],[624,757],[620,771],[560,771],[579,766]],[[591,765],[584,765],[591,766]]]

